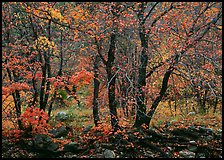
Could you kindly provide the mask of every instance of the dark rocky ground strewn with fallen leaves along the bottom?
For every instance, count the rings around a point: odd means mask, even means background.
[[[100,140],[103,133],[94,134],[75,152],[36,150],[3,140],[2,158],[222,158],[222,134],[204,126],[133,129],[111,134],[107,142]]]

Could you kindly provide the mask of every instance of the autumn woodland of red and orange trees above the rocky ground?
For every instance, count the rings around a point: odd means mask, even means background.
[[[220,2],[3,2],[3,136],[49,134],[61,110],[70,138],[95,125],[86,142],[219,119],[221,17]]]

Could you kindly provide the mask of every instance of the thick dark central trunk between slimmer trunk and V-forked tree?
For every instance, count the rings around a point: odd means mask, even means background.
[[[117,117],[117,103],[115,99],[115,82],[116,75],[113,70],[115,60],[115,34],[112,33],[110,37],[110,48],[108,51],[108,60],[106,63],[107,80],[108,80],[108,98],[109,98],[109,109],[111,116],[111,125],[113,129],[117,130],[119,127]]]

